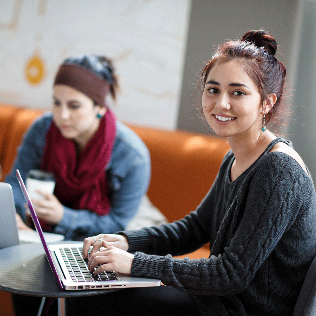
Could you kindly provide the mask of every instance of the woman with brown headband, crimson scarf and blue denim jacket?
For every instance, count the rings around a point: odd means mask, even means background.
[[[117,121],[106,104],[118,84],[111,61],[86,55],[59,67],[52,113],[27,132],[12,173],[17,212],[26,218],[15,169],[54,173],[54,194],[41,192],[35,211],[46,231],[83,240],[124,229],[135,215],[150,177],[149,152],[142,140]]]

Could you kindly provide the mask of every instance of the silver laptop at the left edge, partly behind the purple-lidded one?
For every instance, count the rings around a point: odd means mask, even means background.
[[[23,243],[40,243],[35,230],[18,229],[15,220],[15,204],[12,187],[9,183],[0,182],[0,249]],[[60,234],[44,233],[49,242],[64,240]]]

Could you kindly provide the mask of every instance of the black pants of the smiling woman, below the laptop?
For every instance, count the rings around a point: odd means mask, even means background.
[[[201,316],[189,294],[164,285],[67,299],[67,316]]]

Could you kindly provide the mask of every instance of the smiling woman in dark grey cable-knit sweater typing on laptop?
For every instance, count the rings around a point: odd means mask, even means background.
[[[67,315],[293,315],[316,255],[316,195],[291,142],[267,125],[279,125],[284,113],[286,70],[275,53],[269,32],[250,31],[220,45],[202,70],[204,117],[231,149],[195,211],[84,240],[84,258],[93,246],[92,273],[115,270],[167,286],[69,298]],[[172,257],[207,242],[209,258]]]

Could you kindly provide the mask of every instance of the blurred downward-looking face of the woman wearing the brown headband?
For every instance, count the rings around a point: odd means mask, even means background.
[[[73,139],[81,148],[93,137],[100,125],[97,114],[103,116],[105,107],[95,106],[80,91],[69,86],[54,86],[53,120],[65,138]]]

